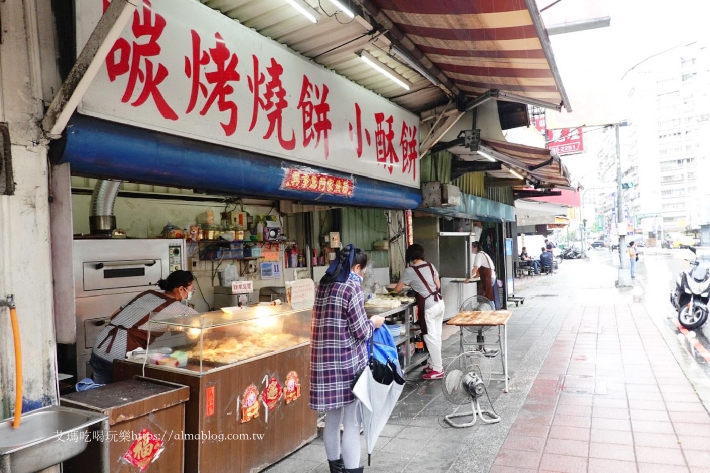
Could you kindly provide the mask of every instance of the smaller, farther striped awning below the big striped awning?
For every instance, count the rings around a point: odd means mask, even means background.
[[[480,150],[541,186],[572,187],[567,167],[556,152],[507,141],[481,140]]]

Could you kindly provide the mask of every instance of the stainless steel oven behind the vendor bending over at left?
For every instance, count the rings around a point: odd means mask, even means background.
[[[74,240],[77,379],[91,374],[91,348],[111,314],[131,296],[157,289],[160,279],[184,268],[181,238]]]

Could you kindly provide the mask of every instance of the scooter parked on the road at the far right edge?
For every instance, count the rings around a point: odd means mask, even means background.
[[[689,246],[688,249],[694,253],[695,260],[687,260],[691,267],[678,276],[675,289],[670,294],[670,303],[678,311],[680,325],[694,330],[708,319],[710,268],[698,260],[694,246]]]

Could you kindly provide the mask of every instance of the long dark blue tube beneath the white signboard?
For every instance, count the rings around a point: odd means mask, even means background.
[[[409,210],[422,204],[421,189],[315,166],[315,172],[355,179],[353,195],[282,189],[283,169],[302,163],[182,138],[75,113],[50,148],[53,164],[73,175],[196,189],[208,194],[261,196],[304,204]]]

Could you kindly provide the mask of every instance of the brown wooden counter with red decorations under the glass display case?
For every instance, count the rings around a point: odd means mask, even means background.
[[[141,374],[142,369],[136,362],[116,361],[114,380],[130,379]],[[268,416],[268,409],[261,404],[258,417],[241,422],[237,401],[244,399],[245,389],[254,384],[262,393],[265,377],[275,377],[285,387],[286,375],[292,370],[300,380],[300,397],[285,404],[282,396]],[[204,374],[146,365],[146,377],[190,388],[190,400],[185,404],[185,433],[202,437],[185,439],[185,472],[260,472],[316,436],[317,413],[308,407],[310,345]],[[227,435],[232,436],[231,440],[227,440]],[[220,436],[223,440],[219,440]]]

